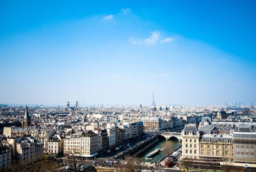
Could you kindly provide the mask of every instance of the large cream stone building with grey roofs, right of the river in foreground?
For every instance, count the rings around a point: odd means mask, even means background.
[[[249,171],[255,170],[256,133],[253,133],[251,125],[241,124],[235,129],[229,133],[204,134],[203,131],[197,131],[195,124],[186,125],[182,131],[182,166],[232,171],[243,171],[246,168]]]

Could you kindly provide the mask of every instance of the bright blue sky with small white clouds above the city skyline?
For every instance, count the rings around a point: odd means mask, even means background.
[[[0,103],[256,101],[255,1],[0,1]]]

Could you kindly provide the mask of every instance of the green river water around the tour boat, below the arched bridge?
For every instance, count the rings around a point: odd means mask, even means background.
[[[152,145],[152,147],[149,147],[144,152],[141,152],[141,154],[138,155],[141,161],[143,162],[151,162],[151,161],[159,161],[164,156],[170,154],[173,152],[173,150],[179,148],[181,146],[181,142],[177,140],[161,140],[157,142],[156,144]],[[145,159],[146,155],[156,148],[161,148],[161,152],[157,154],[152,159]]]

